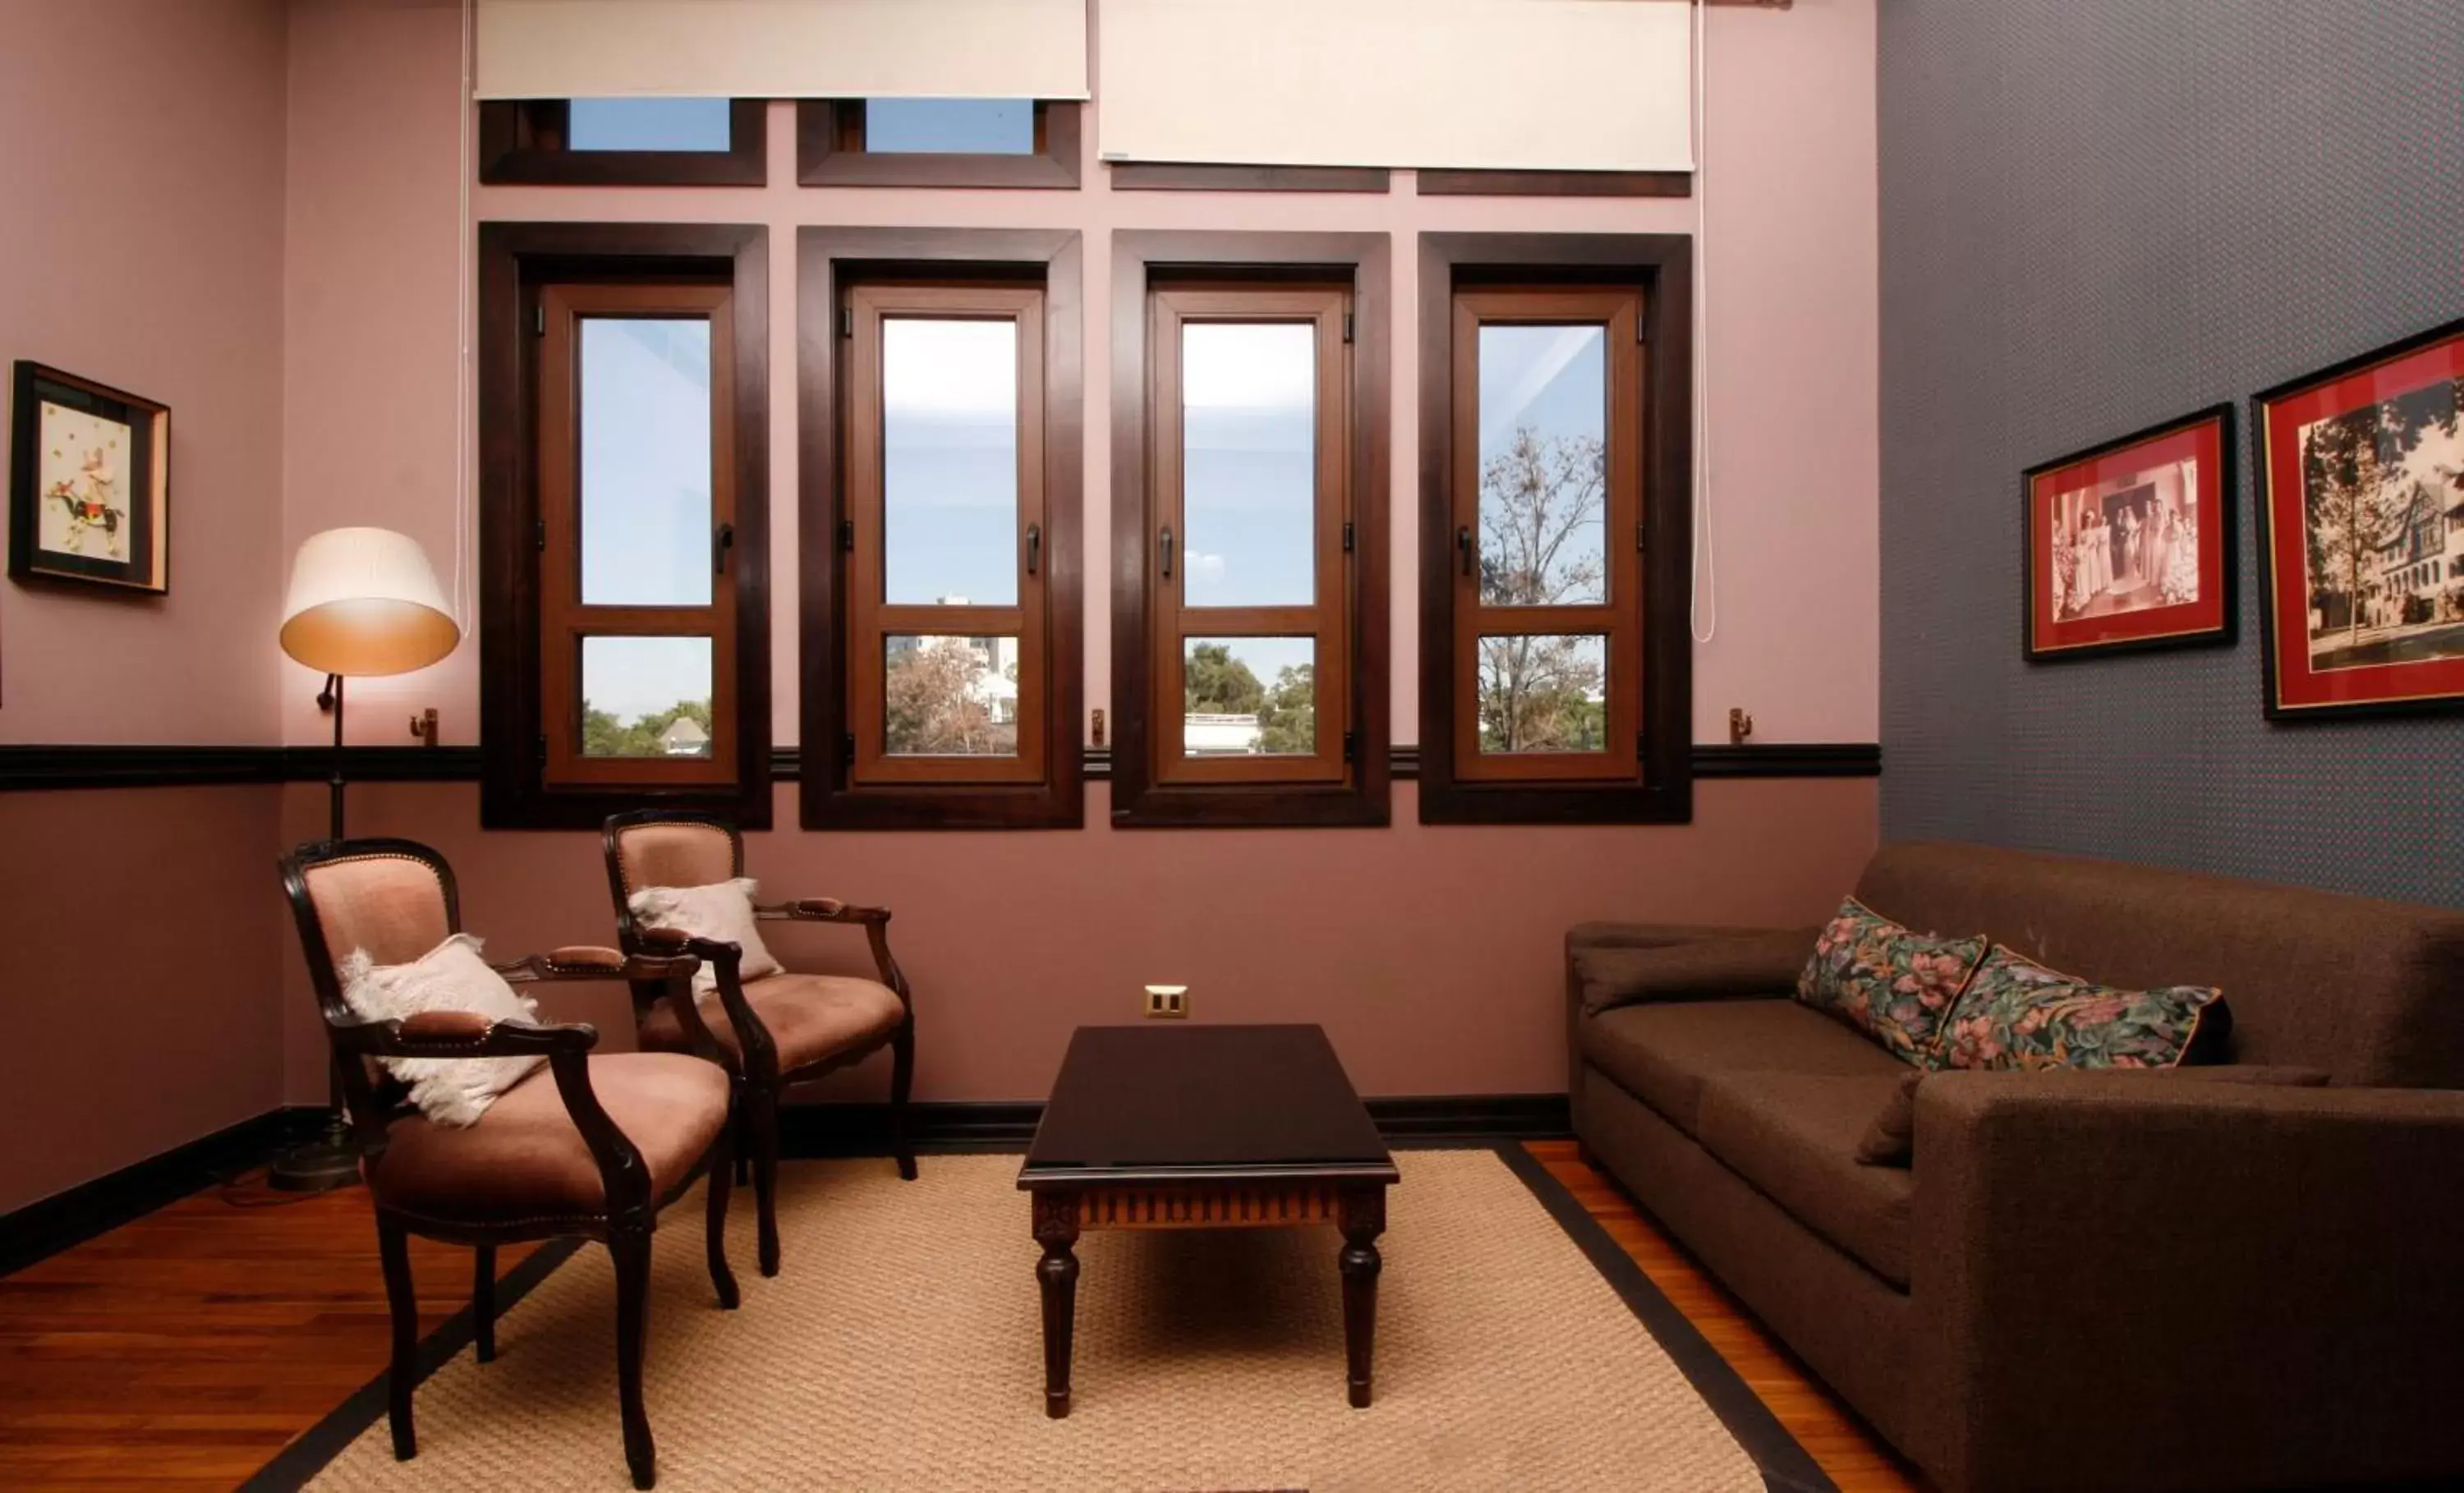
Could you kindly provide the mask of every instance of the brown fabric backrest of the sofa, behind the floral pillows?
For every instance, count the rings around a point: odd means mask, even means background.
[[[2464,1086],[2464,912],[1988,845],[1882,845],[1858,897],[2104,985],[2218,985],[2235,1062]]]

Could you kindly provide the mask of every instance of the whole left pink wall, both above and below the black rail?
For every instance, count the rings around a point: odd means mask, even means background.
[[[0,360],[172,409],[168,599],[0,581],[0,742],[274,742],[281,0],[0,2]],[[0,793],[0,1212],[283,1094],[276,788]]]

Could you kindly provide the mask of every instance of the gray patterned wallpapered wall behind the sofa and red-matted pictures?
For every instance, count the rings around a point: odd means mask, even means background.
[[[2247,448],[2464,315],[2464,0],[1882,0],[1880,158],[1885,838],[2464,904],[2464,714],[2259,714]],[[2023,663],[2018,473],[2220,399],[2240,641]]]

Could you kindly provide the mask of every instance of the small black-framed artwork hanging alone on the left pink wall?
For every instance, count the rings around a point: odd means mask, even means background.
[[[170,591],[170,407],[25,360],[10,389],[10,579]]]

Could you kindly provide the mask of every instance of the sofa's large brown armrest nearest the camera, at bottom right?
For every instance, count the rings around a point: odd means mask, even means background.
[[[2464,1473],[2464,1091],[1917,1091],[1907,1451],[1947,1488]]]

